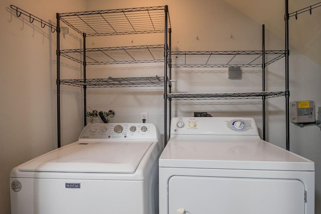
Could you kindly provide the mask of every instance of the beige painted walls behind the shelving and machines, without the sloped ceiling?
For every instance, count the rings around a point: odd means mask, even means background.
[[[219,0],[137,0],[137,1],[9,1],[0,3],[2,71],[0,72],[2,136],[0,160],[0,214],[10,213],[9,172],[32,157],[56,148],[56,34],[47,28],[22,22],[9,9],[10,4],[54,23],[57,12],[103,10],[169,5],[172,23],[172,49],[175,51],[260,50],[261,25]],[[283,22],[283,20],[280,20]],[[230,35],[233,37],[230,38]],[[80,48],[79,35],[70,31],[62,39],[63,48]],[[199,38],[199,40],[196,39]],[[163,35],[128,35],[106,39],[88,38],[87,47],[115,47],[162,44]],[[266,49],[283,50],[284,39],[266,30]],[[81,66],[62,58],[62,79],[81,77]],[[163,64],[88,66],[87,77],[162,76]],[[314,100],[321,106],[320,65],[291,50],[290,100]],[[178,92],[260,91],[260,69],[243,69],[242,80],[229,80],[227,69],[173,69],[178,79]],[[301,81],[300,81],[301,80]],[[267,90],[283,91],[284,60],[268,66]],[[148,112],[149,122],[164,135],[163,88],[88,89],[88,107],[98,111],[115,111],[111,122],[138,122],[140,112]],[[267,139],[285,147],[285,99],[267,101]],[[191,116],[194,111],[207,111],[213,116],[251,116],[261,131],[260,100],[241,101],[175,101],[173,116]],[[90,110],[87,108],[87,110]],[[81,131],[82,92],[62,86],[62,144],[75,141]],[[99,120],[96,120],[99,122]],[[316,212],[321,212],[320,137],[316,126],[299,128],[290,125],[291,150],[315,161]],[[164,136],[163,136],[164,137]]]

